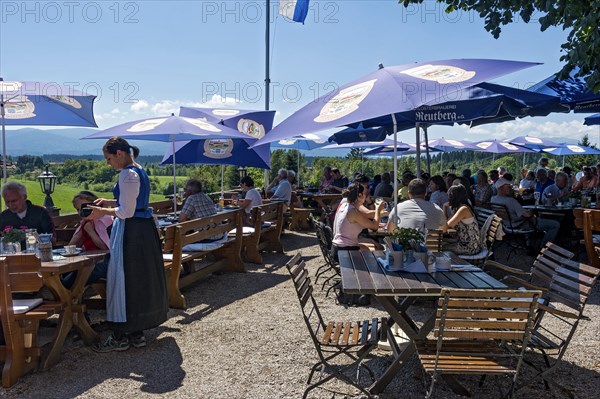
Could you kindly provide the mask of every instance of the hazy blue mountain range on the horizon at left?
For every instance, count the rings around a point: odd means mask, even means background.
[[[68,129],[6,129],[6,154],[19,155],[44,155],[44,154],[72,154],[102,155],[104,140],[80,140],[97,129],[68,128]],[[163,155],[167,143],[156,141],[131,140],[131,144],[140,147],[142,155]]]

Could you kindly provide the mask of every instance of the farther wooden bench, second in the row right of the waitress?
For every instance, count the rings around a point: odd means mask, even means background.
[[[248,262],[262,264],[262,250],[283,253],[280,240],[283,231],[283,205],[283,202],[271,202],[252,208],[254,231],[244,235],[244,259]],[[266,226],[265,222],[270,225]]]

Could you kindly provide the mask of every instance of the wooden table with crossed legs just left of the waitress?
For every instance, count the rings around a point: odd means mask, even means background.
[[[82,304],[82,297],[85,284],[94,266],[102,261],[107,253],[108,251],[93,251],[80,256],[64,257],[64,259],[41,263],[40,275],[44,285],[63,305],[50,351],[42,360],[41,368],[43,370],[49,369],[58,362],[65,338],[73,327],[77,329],[86,345],[91,345],[100,339],[84,316],[85,306]],[[77,276],[69,289],[63,285],[60,277],[70,272],[77,272]]]

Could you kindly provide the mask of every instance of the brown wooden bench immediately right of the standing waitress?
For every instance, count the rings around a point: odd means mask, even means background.
[[[167,269],[167,290],[169,306],[185,309],[186,302],[181,294],[184,288],[217,270],[244,272],[241,259],[242,250],[242,210],[219,213],[200,219],[168,226],[164,233],[163,252],[171,255],[165,260]],[[209,239],[215,235],[235,233],[224,240],[219,248],[205,251],[188,252],[183,247]],[[213,255],[213,263],[199,270],[189,270],[181,275],[183,264]]]

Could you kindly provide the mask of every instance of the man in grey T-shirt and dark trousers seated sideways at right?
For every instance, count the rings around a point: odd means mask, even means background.
[[[540,169],[544,170],[544,169]],[[539,172],[539,171],[538,171]],[[560,228],[560,223],[556,220],[536,218],[530,210],[523,209],[519,201],[513,196],[512,183],[506,179],[500,178],[495,183],[498,195],[492,197],[492,204],[504,205],[510,214],[510,218],[513,222],[513,227],[519,228],[521,226],[535,228],[536,230],[544,231],[544,237],[542,238],[541,248],[546,245],[548,241],[553,241]],[[505,221],[502,221],[506,224]]]

